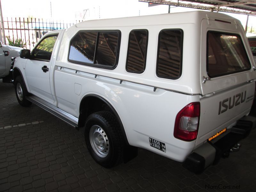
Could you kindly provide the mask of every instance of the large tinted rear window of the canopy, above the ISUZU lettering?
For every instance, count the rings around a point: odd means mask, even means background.
[[[207,32],[207,73],[217,77],[251,68],[241,37],[236,34]]]

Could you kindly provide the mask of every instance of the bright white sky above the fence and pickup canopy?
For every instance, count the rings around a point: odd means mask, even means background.
[[[33,18],[73,21],[168,13],[168,5],[148,7],[148,3],[138,0],[1,0],[1,4],[4,18],[32,16]],[[10,5],[12,5],[11,8]],[[88,12],[83,14],[83,10],[86,9],[90,10],[90,17]],[[171,8],[171,12],[195,10],[182,7]],[[239,19],[245,26],[246,15],[225,14]],[[256,28],[255,16],[249,16],[248,31],[251,27]]]

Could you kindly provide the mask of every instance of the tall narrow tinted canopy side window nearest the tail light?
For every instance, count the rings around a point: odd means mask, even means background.
[[[159,77],[177,79],[181,75],[182,67],[181,30],[162,30],[158,40],[158,58],[156,74]]]

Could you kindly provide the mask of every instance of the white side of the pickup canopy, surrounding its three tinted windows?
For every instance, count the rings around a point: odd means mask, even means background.
[[[200,14],[199,14],[200,13]],[[67,32],[63,36],[63,41],[60,45],[60,54],[56,61],[57,66],[62,66],[66,68],[77,69],[79,71],[85,71],[93,74],[99,74],[103,76],[110,76],[118,79],[124,79],[127,81],[137,82],[141,84],[152,85],[155,87],[161,87],[165,89],[171,89],[180,92],[199,94],[201,92],[200,86],[196,84],[199,81],[199,56],[197,54],[193,54],[191,50],[197,50],[200,46],[199,44],[199,33],[198,30],[200,28],[200,23],[197,22],[199,15],[202,16],[201,12],[189,12],[185,13],[185,15],[189,15],[188,17],[191,20],[179,20],[177,24],[176,16],[182,14],[162,14],[157,15],[157,17],[161,18],[156,23],[156,18],[152,16],[141,16],[141,17],[132,17],[132,18],[122,18],[122,19],[110,19],[103,21],[86,21],[81,24],[72,26],[67,29]],[[184,16],[184,15],[183,15]],[[175,19],[174,19],[175,17]],[[204,13],[205,17],[205,13]],[[155,19],[153,19],[155,18]],[[153,19],[152,21],[150,19]],[[194,21],[192,21],[194,19]],[[132,22],[133,25],[129,26],[129,22]],[[150,20],[151,22],[148,22]],[[161,22],[159,23],[159,21]],[[126,21],[128,23],[126,23]],[[155,23],[154,23],[155,22]],[[173,24],[173,22],[175,24]],[[201,20],[200,20],[201,22]],[[115,27],[113,27],[113,24]],[[97,25],[97,27],[96,27]],[[108,25],[108,27],[106,27]],[[82,27],[83,26],[83,27]],[[104,27],[105,26],[105,27]],[[109,27],[111,26],[111,27]],[[156,27],[157,26],[157,27]],[[149,38],[148,38],[148,52],[147,52],[147,64],[144,73],[142,74],[133,74],[128,73],[125,70],[126,63],[126,55],[127,55],[127,47],[128,47],[128,38],[129,33],[133,29],[148,29]],[[188,56],[183,57],[183,67],[182,75],[178,80],[170,80],[165,78],[159,78],[156,76],[156,59],[157,59],[157,44],[158,44],[158,35],[162,29],[182,29],[184,31],[184,46],[183,52],[184,55]],[[119,62],[117,67],[114,70],[106,70],[106,69],[98,69],[93,67],[88,67],[79,64],[73,64],[68,62],[68,49],[69,42],[71,38],[79,31],[79,30],[120,30],[121,31],[121,48],[119,55]],[[196,38],[195,38],[196,37]],[[193,67],[190,67],[193,66]],[[189,81],[188,78],[189,77]]]

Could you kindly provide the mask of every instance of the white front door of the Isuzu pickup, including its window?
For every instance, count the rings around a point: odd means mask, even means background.
[[[31,93],[54,102],[50,86],[52,54],[58,34],[45,36],[31,52],[26,63],[26,76]]]

